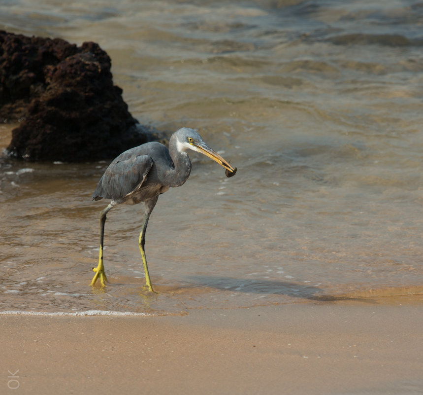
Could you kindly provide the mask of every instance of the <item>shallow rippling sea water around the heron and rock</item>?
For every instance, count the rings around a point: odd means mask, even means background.
[[[0,29],[93,40],[130,112],[194,127],[238,168],[191,154],[151,216],[107,217],[107,163],[0,167],[0,310],[184,314],[423,293],[423,3],[3,2]],[[12,125],[0,126],[1,147]]]

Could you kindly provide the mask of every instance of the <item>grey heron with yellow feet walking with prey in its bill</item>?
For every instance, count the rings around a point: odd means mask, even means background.
[[[149,142],[130,148],[116,157],[106,169],[93,194],[93,200],[111,199],[100,213],[100,251],[98,266],[91,285],[99,279],[101,287],[107,282],[103,264],[104,224],[107,213],[119,204],[144,202],[144,222],[138,238],[139,250],[145,271],[145,287],[155,292],[151,284],[145,256],[145,232],[151,212],[159,195],[170,187],[181,186],[191,173],[191,161],[187,150],[200,152],[226,169],[228,177],[236,172],[228,161],[204,143],[202,137],[190,128],[181,128],[172,134],[169,148],[158,142]]]

